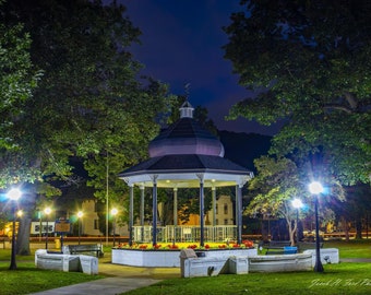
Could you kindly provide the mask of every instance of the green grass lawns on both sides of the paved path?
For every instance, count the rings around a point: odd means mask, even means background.
[[[325,241],[324,247],[338,248],[340,258],[371,258],[371,240]],[[110,253],[109,247],[104,250]],[[10,250],[0,249],[1,295],[29,294],[104,278],[36,269],[34,252],[17,256],[17,270],[9,271]],[[324,273],[249,273],[165,280],[125,294],[371,294],[371,263],[326,264],[324,269]]]

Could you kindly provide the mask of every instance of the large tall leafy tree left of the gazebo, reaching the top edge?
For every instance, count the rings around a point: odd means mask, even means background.
[[[140,30],[124,12],[116,2],[87,0],[14,0],[1,8],[1,22],[24,23],[33,40],[31,59],[44,71],[11,128],[19,167],[37,174],[17,181],[36,187],[56,179],[72,181],[69,161],[77,156],[101,198],[107,161],[111,179],[146,156],[147,142],[159,129],[156,118],[167,110],[167,86],[140,79],[142,66],[129,51]],[[11,167],[8,156],[4,153],[2,162]],[[121,188],[116,187],[117,194],[124,193]],[[39,193],[33,191],[31,199]],[[25,220],[31,222],[32,208],[27,211]],[[29,228],[26,222],[21,226]]]

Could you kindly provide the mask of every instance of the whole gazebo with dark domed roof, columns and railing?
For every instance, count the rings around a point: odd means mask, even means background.
[[[193,107],[188,101],[180,107],[180,119],[165,129],[155,138],[148,148],[149,158],[119,174],[130,188],[129,205],[129,245],[134,239],[144,241],[145,235],[152,236],[152,244],[158,241],[157,228],[157,189],[171,188],[173,190],[173,225],[171,236],[190,234],[182,231],[178,222],[178,189],[200,189],[200,227],[195,228],[194,239],[204,246],[207,240],[216,241],[217,228],[215,221],[216,188],[236,187],[236,226],[234,237],[241,244],[242,235],[242,187],[253,177],[253,173],[240,165],[224,158],[222,142],[211,132],[200,126],[193,118]],[[140,226],[134,226],[133,221],[133,196],[134,186],[141,190]],[[152,225],[144,225],[144,189],[152,188],[153,208]],[[204,188],[212,189],[213,197],[213,222],[205,231],[204,222]],[[137,229],[137,231],[136,231]],[[189,229],[189,228],[188,228]],[[206,235],[205,235],[206,232]],[[164,235],[161,235],[164,236]]]

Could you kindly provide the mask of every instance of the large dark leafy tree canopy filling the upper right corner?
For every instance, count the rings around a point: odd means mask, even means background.
[[[369,1],[241,1],[225,27],[240,84],[259,90],[238,116],[285,126],[271,153],[304,160],[321,151],[345,185],[370,182]]]

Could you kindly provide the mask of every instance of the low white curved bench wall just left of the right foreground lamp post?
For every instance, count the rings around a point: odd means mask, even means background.
[[[312,269],[312,253],[248,257],[249,272],[290,272]]]

